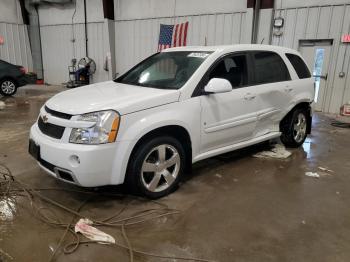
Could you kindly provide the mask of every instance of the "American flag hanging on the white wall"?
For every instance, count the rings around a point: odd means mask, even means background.
[[[188,22],[176,25],[160,25],[158,52],[175,46],[185,46]]]

